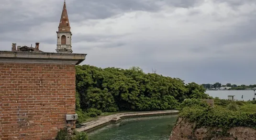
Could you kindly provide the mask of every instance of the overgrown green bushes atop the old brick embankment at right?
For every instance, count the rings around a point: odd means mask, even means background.
[[[220,104],[227,104],[230,101],[220,101]],[[241,102],[240,102],[241,103]],[[198,104],[196,102],[196,104]],[[231,101],[227,106],[186,106],[181,112],[180,116],[186,118],[191,122],[196,122],[196,128],[200,127],[217,127],[223,130],[228,130],[232,127],[250,127],[256,128],[256,112],[245,111],[243,107],[247,104],[244,102],[241,108],[238,110],[236,101]]]

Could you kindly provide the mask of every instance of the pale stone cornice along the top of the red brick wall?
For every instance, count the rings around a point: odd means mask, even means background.
[[[80,53],[0,51],[0,62],[78,65],[85,60],[86,55]]]

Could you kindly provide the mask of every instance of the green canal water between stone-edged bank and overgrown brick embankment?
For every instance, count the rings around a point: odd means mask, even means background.
[[[89,133],[89,140],[168,140],[177,115],[123,119]]]

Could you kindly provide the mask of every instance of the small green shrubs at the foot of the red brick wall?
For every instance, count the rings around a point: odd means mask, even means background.
[[[74,131],[72,134],[67,132],[67,128],[59,130],[56,136],[56,140],[88,140],[86,132]]]

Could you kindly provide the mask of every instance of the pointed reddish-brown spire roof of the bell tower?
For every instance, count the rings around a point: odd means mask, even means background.
[[[62,14],[60,17],[60,22],[59,22],[59,32],[69,32],[70,31],[70,25],[69,25],[69,20],[67,16],[67,7],[66,7],[66,0],[64,1],[63,5],[63,10]]]

